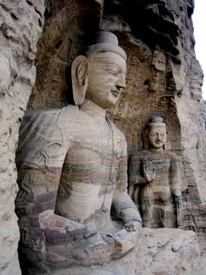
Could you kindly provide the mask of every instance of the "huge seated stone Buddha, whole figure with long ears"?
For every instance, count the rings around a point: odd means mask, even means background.
[[[30,266],[45,272],[122,256],[141,226],[127,193],[126,140],[106,118],[125,87],[126,54],[117,37],[99,32],[96,44],[73,61],[71,77],[76,106],[30,111],[20,132],[20,249]],[[126,245],[116,253],[119,230]]]

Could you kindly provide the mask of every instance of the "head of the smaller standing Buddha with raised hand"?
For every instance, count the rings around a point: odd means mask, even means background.
[[[164,148],[166,142],[166,125],[159,115],[152,115],[144,130],[144,147]]]

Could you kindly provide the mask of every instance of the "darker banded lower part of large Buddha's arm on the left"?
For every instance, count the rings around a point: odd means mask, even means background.
[[[52,167],[24,167],[19,172],[16,197],[19,227],[34,238],[45,236],[49,243],[89,235],[85,225],[54,214],[60,173],[61,168]]]

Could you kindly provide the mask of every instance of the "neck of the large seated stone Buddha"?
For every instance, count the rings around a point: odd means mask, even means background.
[[[83,104],[80,106],[80,110],[88,113],[95,120],[99,120],[100,122],[105,120],[106,110],[87,98],[84,99]]]

